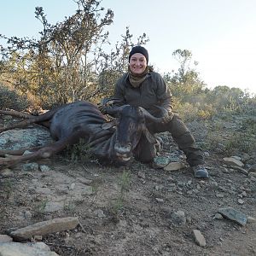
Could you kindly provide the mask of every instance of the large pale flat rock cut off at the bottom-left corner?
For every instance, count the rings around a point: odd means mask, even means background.
[[[41,245],[38,245],[41,244]],[[39,243],[19,243],[4,242],[0,243],[1,256],[57,256],[59,254],[50,252],[49,247],[44,242]]]

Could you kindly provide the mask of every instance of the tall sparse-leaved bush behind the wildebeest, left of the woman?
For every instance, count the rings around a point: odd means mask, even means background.
[[[6,38],[2,47],[4,73],[10,74],[15,88],[36,96],[46,105],[91,100],[106,93],[108,84],[124,72],[132,35],[126,28],[121,43],[110,54],[107,26],[113,23],[113,11],[100,6],[101,1],[76,0],[78,10],[55,25],[49,24],[42,7],[37,20],[43,25],[40,38]],[[145,34],[137,43],[147,42]]]

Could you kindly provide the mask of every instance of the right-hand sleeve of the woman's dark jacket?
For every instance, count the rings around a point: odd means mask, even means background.
[[[158,87],[157,87],[157,97],[160,102],[160,107],[165,108],[168,113],[172,113],[173,101],[172,93],[166,85],[165,80],[159,75],[158,77]]]

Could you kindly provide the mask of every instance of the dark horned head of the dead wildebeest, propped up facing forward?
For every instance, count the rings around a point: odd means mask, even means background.
[[[117,119],[102,126],[107,129],[116,126],[114,154],[122,161],[131,159],[134,148],[137,147],[142,134],[149,143],[158,144],[156,138],[148,131],[146,119],[160,122],[162,119],[154,118],[148,111],[141,107],[125,105],[121,107],[109,108],[108,113],[118,115]]]

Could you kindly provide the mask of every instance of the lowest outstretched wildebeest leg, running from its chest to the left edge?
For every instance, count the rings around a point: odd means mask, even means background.
[[[31,154],[9,155],[6,158],[0,158],[0,167],[15,166],[16,164],[24,161],[49,158],[51,155],[61,152],[64,148],[67,148],[68,145],[77,143],[79,138],[83,137],[83,135],[84,132],[78,131],[69,137],[63,138],[60,141],[52,143],[47,147],[32,152]]]

